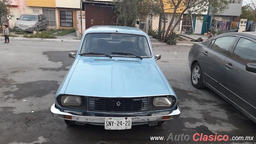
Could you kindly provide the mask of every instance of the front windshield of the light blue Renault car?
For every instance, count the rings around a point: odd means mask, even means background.
[[[80,54],[100,53],[112,56],[150,57],[150,47],[145,36],[120,33],[86,34]]]

